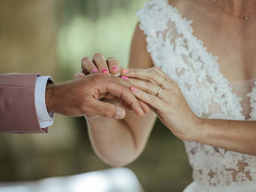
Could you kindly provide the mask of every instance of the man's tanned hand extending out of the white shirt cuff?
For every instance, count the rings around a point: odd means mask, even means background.
[[[144,112],[140,103],[130,91],[132,85],[125,80],[106,74],[90,74],[62,84],[49,85],[46,87],[46,108],[48,112],[58,113],[65,116],[83,116],[98,114],[108,118],[122,119],[125,110],[100,99],[110,93],[120,97],[139,116]]]

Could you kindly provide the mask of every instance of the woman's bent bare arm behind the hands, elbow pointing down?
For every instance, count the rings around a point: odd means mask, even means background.
[[[137,25],[130,48],[129,68],[152,67],[145,38]],[[87,119],[87,124],[96,154],[107,164],[124,166],[142,153],[155,121],[153,112],[140,117],[126,110],[122,120],[100,117]]]

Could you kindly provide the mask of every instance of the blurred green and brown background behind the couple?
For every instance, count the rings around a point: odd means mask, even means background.
[[[127,66],[142,0],[1,0],[0,73],[38,72],[55,82],[102,52]],[[109,166],[93,152],[86,122],[57,115],[48,134],[1,134],[0,181],[79,174]],[[143,154],[128,166],[146,192],[180,192],[191,181],[181,140],[158,120]]]

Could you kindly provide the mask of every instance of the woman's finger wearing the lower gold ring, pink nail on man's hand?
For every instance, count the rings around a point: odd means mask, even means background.
[[[130,78],[129,81],[134,87],[139,88],[140,90],[147,92],[151,95],[156,95],[160,91],[160,93],[158,94],[158,98],[162,99],[164,102],[168,102],[169,96],[167,89],[162,89],[160,86],[152,82],[145,82],[139,79]]]

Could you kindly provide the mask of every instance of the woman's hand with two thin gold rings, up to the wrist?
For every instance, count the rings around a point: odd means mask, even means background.
[[[122,75],[129,77],[134,86],[131,88],[134,95],[150,104],[173,134],[182,140],[196,138],[202,119],[192,112],[178,84],[159,67],[123,69]]]

